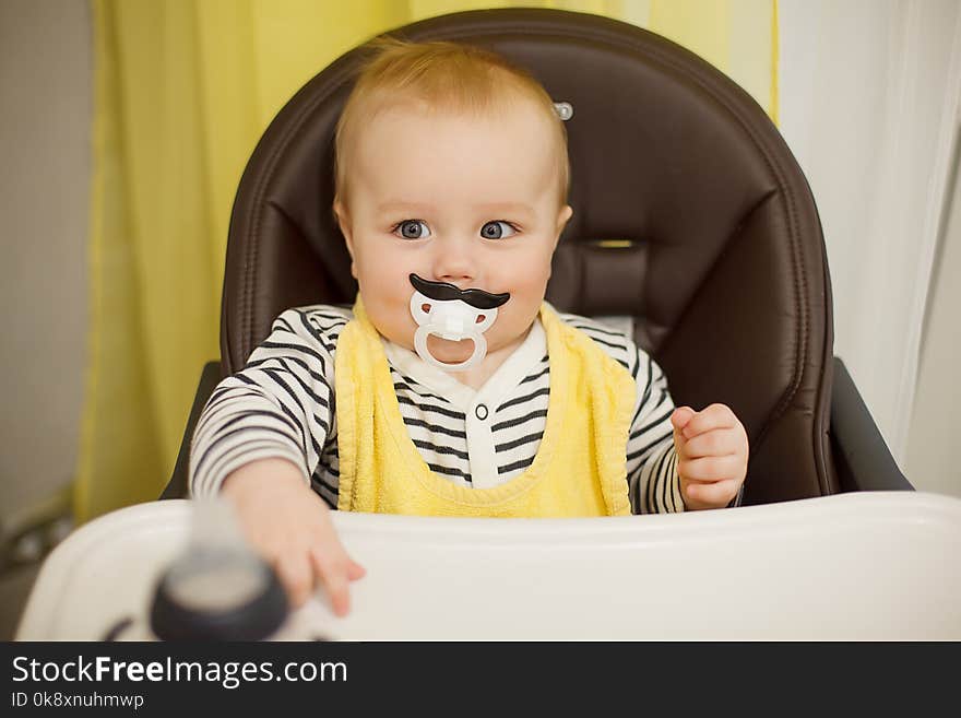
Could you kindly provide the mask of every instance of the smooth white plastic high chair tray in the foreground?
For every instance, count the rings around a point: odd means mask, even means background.
[[[44,564],[16,638],[98,640],[143,616],[191,504],[100,517]],[[335,514],[367,568],[345,619],[373,639],[961,639],[961,501],[913,492],[607,519]]]

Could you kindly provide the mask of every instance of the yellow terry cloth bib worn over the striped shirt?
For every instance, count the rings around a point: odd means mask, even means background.
[[[541,307],[550,396],[534,462],[491,489],[435,474],[401,416],[380,336],[360,298],[334,357],[341,510],[417,516],[630,514],[627,438],[633,379],[589,337]]]

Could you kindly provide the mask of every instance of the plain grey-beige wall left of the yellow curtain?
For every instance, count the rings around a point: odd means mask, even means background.
[[[85,364],[91,20],[0,2],[0,522],[73,476]]]

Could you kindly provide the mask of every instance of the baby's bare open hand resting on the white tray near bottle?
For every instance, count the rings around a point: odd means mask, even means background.
[[[247,540],[270,562],[294,607],[322,582],[336,615],[349,610],[348,585],[365,574],[341,545],[323,499],[285,459],[251,461],[224,481]]]

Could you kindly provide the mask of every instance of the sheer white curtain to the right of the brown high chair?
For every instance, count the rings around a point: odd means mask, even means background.
[[[779,36],[781,131],[824,228],[834,353],[903,470],[957,134],[961,3],[781,0]]]

